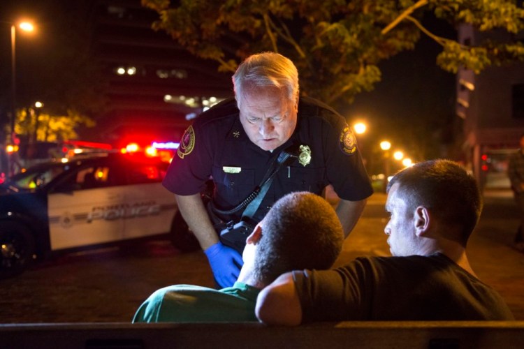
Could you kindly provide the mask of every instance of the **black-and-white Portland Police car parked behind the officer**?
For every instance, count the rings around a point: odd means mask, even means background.
[[[167,167],[158,158],[105,154],[11,177],[0,186],[0,278],[54,251],[173,235],[184,222],[161,185]]]

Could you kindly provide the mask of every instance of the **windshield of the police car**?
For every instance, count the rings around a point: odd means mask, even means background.
[[[52,163],[38,165],[27,171],[17,173],[9,179],[9,184],[20,189],[34,189],[45,186],[66,170],[66,164]]]

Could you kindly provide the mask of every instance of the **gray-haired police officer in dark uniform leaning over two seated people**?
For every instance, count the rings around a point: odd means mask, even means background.
[[[201,200],[206,180],[215,184],[214,207],[234,208],[261,184],[280,151],[294,145],[300,156],[277,172],[255,220],[286,193],[320,195],[331,184],[341,199],[336,211],[346,236],[372,194],[351,128],[327,105],[299,97],[298,71],[291,60],[273,52],[254,54],[240,64],[233,85],[235,99],[203,112],[187,128],[163,181],[175,193],[221,287],[233,285],[242,257],[219,242]],[[221,218],[238,221],[241,214]]]

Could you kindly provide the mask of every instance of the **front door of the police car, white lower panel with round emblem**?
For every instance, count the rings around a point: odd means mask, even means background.
[[[124,239],[125,179],[110,162],[69,173],[48,195],[51,249]]]

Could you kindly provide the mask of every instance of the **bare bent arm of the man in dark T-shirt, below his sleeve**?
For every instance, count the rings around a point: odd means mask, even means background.
[[[293,274],[282,274],[261,290],[256,299],[255,314],[261,322],[268,325],[300,325],[302,307]]]

